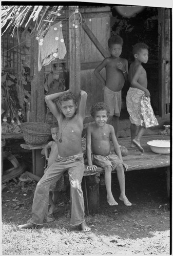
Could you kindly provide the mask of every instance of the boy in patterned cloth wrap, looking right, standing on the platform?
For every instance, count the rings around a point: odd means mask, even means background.
[[[139,43],[133,46],[134,61],[129,69],[130,88],[127,92],[126,105],[130,116],[130,147],[137,146],[144,152],[140,139],[147,127],[158,125],[158,121],[150,105],[150,93],[147,89],[147,75],[142,63],[148,61],[148,46]]]

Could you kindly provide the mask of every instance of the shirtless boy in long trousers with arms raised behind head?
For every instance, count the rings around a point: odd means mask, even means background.
[[[32,218],[28,223],[18,226],[19,228],[37,228],[47,221],[49,186],[68,170],[72,197],[71,224],[80,225],[83,232],[90,230],[84,219],[84,198],[81,188],[85,169],[81,140],[87,93],[81,91],[80,96],[79,106],[75,96],[68,91],[45,97],[48,108],[59,124],[57,141],[59,156],[37,183],[32,204]],[[59,98],[61,110],[57,109],[54,103],[57,98]]]

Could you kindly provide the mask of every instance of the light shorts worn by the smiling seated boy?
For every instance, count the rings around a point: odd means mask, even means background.
[[[121,161],[116,154],[110,152],[110,154],[106,157],[93,154],[93,163],[103,168],[105,168],[107,165],[110,165],[112,170],[114,170],[119,164],[123,164],[123,161]]]

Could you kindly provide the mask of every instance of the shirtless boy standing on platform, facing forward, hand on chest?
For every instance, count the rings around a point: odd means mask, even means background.
[[[128,78],[127,59],[121,58],[123,39],[118,36],[112,36],[108,39],[110,57],[105,58],[102,63],[94,70],[95,76],[103,82],[104,102],[109,106],[110,116],[108,123],[113,125],[114,132],[118,138],[118,124],[121,112],[121,90],[125,79]],[[100,71],[106,69],[106,80],[100,74]]]

